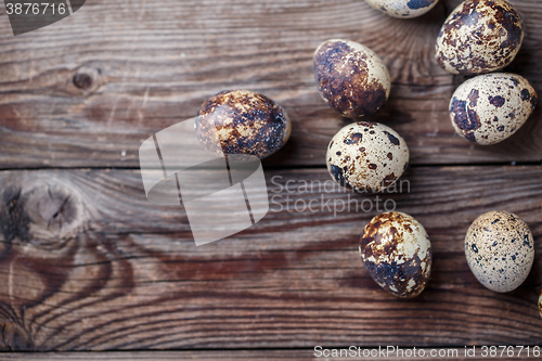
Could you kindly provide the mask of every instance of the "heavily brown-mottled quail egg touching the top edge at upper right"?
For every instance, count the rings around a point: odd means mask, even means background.
[[[524,24],[504,0],[467,0],[452,11],[437,38],[436,59],[452,74],[505,67],[524,41]]]

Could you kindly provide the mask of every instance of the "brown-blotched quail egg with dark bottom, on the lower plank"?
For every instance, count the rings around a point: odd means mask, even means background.
[[[374,217],[363,231],[360,255],[376,283],[398,297],[424,291],[431,271],[431,243],[412,216],[390,211]]]

